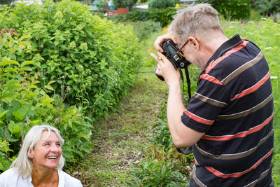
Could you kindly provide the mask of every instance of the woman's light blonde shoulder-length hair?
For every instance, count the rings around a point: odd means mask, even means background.
[[[21,174],[22,178],[31,176],[33,172],[33,164],[28,158],[28,153],[33,151],[33,148],[40,140],[42,133],[45,131],[48,131],[48,136],[50,135],[50,132],[55,132],[61,144],[64,144],[64,139],[62,139],[57,128],[50,125],[35,125],[34,127],[31,127],[31,129],[27,132],[25,139],[23,140],[20,153],[18,153],[18,158],[13,161],[12,165],[10,165],[10,168],[18,169],[18,172]],[[57,169],[62,169],[63,166],[64,158],[61,155],[57,163]]]

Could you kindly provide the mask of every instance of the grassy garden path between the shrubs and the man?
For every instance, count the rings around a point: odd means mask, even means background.
[[[72,175],[85,187],[126,186],[132,163],[144,158],[143,150],[149,145],[166,97],[167,87],[153,74],[153,67],[141,69],[116,111],[97,123],[93,153]]]

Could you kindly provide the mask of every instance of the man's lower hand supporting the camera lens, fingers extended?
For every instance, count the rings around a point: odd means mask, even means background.
[[[157,71],[155,71],[155,74],[165,78],[165,83],[167,83],[168,88],[175,83],[180,84],[181,75],[179,69],[176,71],[172,63],[167,57],[165,57],[165,55],[162,55],[162,53],[158,52],[158,56],[151,53],[151,57],[158,62],[158,68]]]

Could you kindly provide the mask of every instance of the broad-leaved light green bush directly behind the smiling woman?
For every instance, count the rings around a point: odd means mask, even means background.
[[[31,73],[32,61],[16,61],[14,54],[20,56],[31,50],[26,41],[31,36],[1,36],[0,170],[10,167],[20,149],[22,137],[37,124],[57,127],[65,139],[62,149],[66,165],[77,162],[92,150],[90,120],[83,116],[81,107],[66,107],[45,92],[52,90],[54,81],[40,85],[41,74]]]

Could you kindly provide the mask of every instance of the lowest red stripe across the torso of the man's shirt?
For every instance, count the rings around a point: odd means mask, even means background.
[[[206,166],[205,168],[208,169],[209,172],[215,174],[218,177],[224,178],[224,179],[228,179],[230,177],[239,178],[240,176],[242,176],[248,172],[251,172],[251,170],[258,167],[262,163],[263,160],[267,159],[269,157],[269,155],[272,154],[272,152],[273,152],[273,148],[264,157],[262,157],[260,160],[258,160],[258,162],[256,162],[252,167],[250,167],[249,169],[246,169],[244,172],[223,174],[222,172],[219,172],[218,170],[214,169],[213,167]]]

